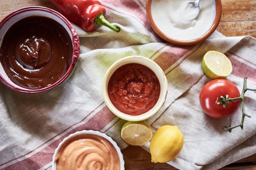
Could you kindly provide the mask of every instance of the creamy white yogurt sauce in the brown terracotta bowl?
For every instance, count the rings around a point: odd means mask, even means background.
[[[188,41],[204,35],[211,27],[216,11],[214,0],[200,0],[200,12],[196,19],[190,20],[192,6],[182,5],[192,0],[152,0],[151,14],[155,25],[172,39]],[[184,11],[182,16],[179,10]],[[183,13],[183,12],[182,12]]]

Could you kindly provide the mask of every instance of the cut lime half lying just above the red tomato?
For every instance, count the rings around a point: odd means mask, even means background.
[[[208,51],[202,60],[204,74],[211,79],[226,78],[232,72],[232,64],[223,53]]]

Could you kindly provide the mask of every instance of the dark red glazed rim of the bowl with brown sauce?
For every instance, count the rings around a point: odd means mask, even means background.
[[[10,89],[13,89],[13,90],[21,92],[21,93],[29,93],[29,94],[43,93],[46,91],[50,91],[50,90],[54,89],[55,87],[58,87],[72,74],[72,71],[74,70],[76,63],[78,62],[79,55],[80,55],[80,41],[79,41],[78,33],[75,31],[75,29],[72,27],[72,25],[68,21],[68,19],[66,19],[66,17],[64,17],[62,14],[58,13],[57,11],[55,11],[53,9],[50,9],[47,7],[41,7],[41,6],[29,6],[29,7],[17,9],[16,11],[14,11],[14,12],[10,13],[9,15],[7,15],[6,17],[4,17],[4,19],[2,19],[2,21],[0,21],[0,28],[6,23],[6,21],[11,19],[15,15],[19,15],[20,13],[23,13],[25,11],[45,11],[45,12],[51,13],[51,14],[55,15],[56,17],[58,17],[59,19],[61,19],[68,26],[68,28],[72,34],[71,41],[73,43],[73,52],[72,52],[71,64],[70,64],[67,72],[64,74],[64,76],[62,76],[54,84],[52,84],[48,87],[44,87],[42,89],[25,89],[25,88],[16,87],[16,86],[12,85],[8,80],[4,79],[4,77],[0,74],[0,81],[2,81],[2,83],[4,83],[4,85],[9,87]],[[2,63],[0,63],[0,64],[2,64]]]

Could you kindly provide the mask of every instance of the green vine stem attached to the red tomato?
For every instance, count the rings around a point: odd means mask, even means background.
[[[242,130],[244,128],[244,117],[247,116],[247,117],[251,117],[250,115],[247,115],[245,113],[245,110],[244,110],[244,94],[246,91],[254,91],[256,93],[256,89],[249,89],[247,88],[247,77],[244,77],[244,87],[242,89],[242,94],[240,97],[236,97],[236,98],[229,98],[228,95],[226,95],[225,97],[221,96],[220,100],[218,101],[218,98],[216,100],[216,104],[222,104],[223,105],[223,108],[226,108],[226,105],[227,103],[231,103],[231,102],[238,102],[239,100],[241,101],[241,105],[242,105],[242,119],[241,119],[241,122],[233,127],[231,127],[231,118],[230,118],[230,124],[229,126],[225,126],[225,127],[222,127],[224,130],[227,130],[229,132],[232,131],[233,128],[236,128],[236,127],[240,127]]]

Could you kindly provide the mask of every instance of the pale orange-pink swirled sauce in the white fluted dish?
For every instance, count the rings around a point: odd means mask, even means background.
[[[66,141],[57,153],[56,170],[120,170],[115,147],[95,134],[81,134]]]

